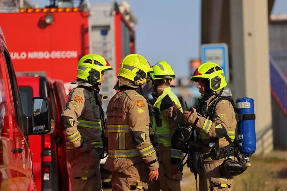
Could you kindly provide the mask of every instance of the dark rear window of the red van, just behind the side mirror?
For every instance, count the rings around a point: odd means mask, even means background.
[[[19,86],[21,101],[24,107],[26,116],[32,117],[32,98],[33,90],[29,86]]]

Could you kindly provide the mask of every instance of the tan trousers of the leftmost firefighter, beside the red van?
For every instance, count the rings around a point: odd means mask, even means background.
[[[72,168],[69,175],[72,191],[102,191],[99,152],[92,150],[69,156],[72,152],[75,151],[67,150],[66,152],[67,160]]]

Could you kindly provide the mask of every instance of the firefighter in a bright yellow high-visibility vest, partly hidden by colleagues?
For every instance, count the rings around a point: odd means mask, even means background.
[[[182,173],[177,170],[183,153],[172,144],[171,137],[177,128],[176,123],[169,119],[169,110],[173,102],[177,108],[181,104],[177,96],[172,92],[170,82],[175,79],[172,67],[165,61],[159,61],[152,67],[154,72],[150,73],[154,93],[156,96],[153,107],[158,114],[153,117],[152,129],[156,133],[157,155],[159,157],[159,180],[149,183],[148,190],[151,191],[180,191]],[[181,110],[182,111],[182,110]]]

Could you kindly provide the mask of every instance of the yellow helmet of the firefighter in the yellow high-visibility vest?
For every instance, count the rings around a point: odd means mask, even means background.
[[[166,63],[166,61],[159,61],[153,67],[153,72],[150,73],[150,77],[153,80],[158,79],[175,79],[175,72],[173,71],[172,67]]]

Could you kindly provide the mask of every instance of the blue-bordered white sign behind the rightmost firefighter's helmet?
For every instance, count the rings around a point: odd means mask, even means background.
[[[228,46],[226,43],[202,44],[200,58],[201,63],[218,64],[224,71],[226,82],[229,82]]]

